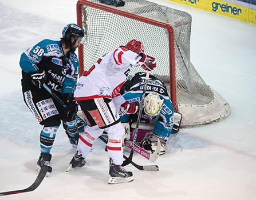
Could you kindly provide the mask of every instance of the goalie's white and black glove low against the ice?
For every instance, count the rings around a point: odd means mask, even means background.
[[[163,155],[166,153],[166,141],[160,137],[159,135],[150,135],[143,141],[139,143],[139,146],[147,151],[151,151],[151,153],[154,153],[157,147],[157,139],[159,139],[161,143],[161,149],[160,149],[160,154]]]

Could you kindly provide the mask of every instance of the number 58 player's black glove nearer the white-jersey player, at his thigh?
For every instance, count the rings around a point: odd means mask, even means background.
[[[74,100],[73,93],[63,94],[63,99],[64,99],[65,105],[68,106],[68,109],[66,109],[66,121],[69,122],[74,119],[74,115],[76,115],[78,110],[78,105]]]

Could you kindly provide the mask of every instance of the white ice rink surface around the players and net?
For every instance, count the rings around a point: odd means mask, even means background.
[[[0,192],[25,189],[37,176],[41,126],[25,106],[19,57],[41,41],[58,39],[76,22],[71,0],[0,1]],[[156,164],[159,172],[129,165],[135,180],[108,185],[108,155],[96,141],[87,165],[65,173],[75,149],[60,128],[53,173],[33,192],[2,199],[256,199],[256,26],[168,1],[192,15],[191,62],[231,114],[211,125],[180,130]],[[120,44],[121,45],[121,44]],[[151,165],[139,156],[139,165]]]

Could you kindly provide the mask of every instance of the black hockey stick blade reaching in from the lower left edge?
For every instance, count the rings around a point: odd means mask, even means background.
[[[0,193],[1,196],[10,195],[10,194],[20,194],[20,193],[27,193],[29,191],[34,191],[37,189],[37,187],[41,184],[42,180],[45,178],[45,175],[48,171],[48,166],[42,166],[39,174],[37,175],[36,180],[34,183],[23,190],[13,190],[13,191],[4,191],[3,193]]]

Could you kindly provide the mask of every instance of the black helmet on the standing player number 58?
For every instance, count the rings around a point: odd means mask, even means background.
[[[69,41],[71,36],[73,36],[74,39],[77,40],[80,37],[84,37],[84,35],[84,29],[82,29],[82,27],[76,25],[75,23],[69,23],[62,30],[62,38],[66,39],[66,41]]]

